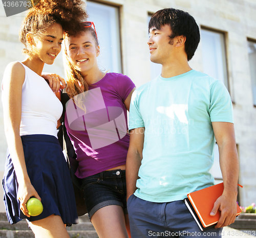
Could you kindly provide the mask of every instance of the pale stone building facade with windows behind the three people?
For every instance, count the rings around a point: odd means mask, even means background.
[[[89,20],[94,21],[100,42],[99,65],[103,71],[128,75],[136,84],[152,80],[161,67],[150,61],[148,20],[162,8],[177,8],[194,16],[201,41],[191,68],[218,78],[226,85],[234,110],[240,159],[239,202],[256,202],[256,2],[255,0],[108,0],[86,1]],[[6,17],[0,4],[0,78],[11,61],[22,61],[18,30],[25,12]],[[64,76],[59,54],[45,72]],[[38,89],[39,90],[39,89]],[[221,180],[216,164],[212,169]],[[7,143],[0,104],[0,174],[3,177]],[[1,177],[1,178],[2,178]],[[2,192],[2,189],[1,189]],[[4,210],[0,201],[0,210]]]

